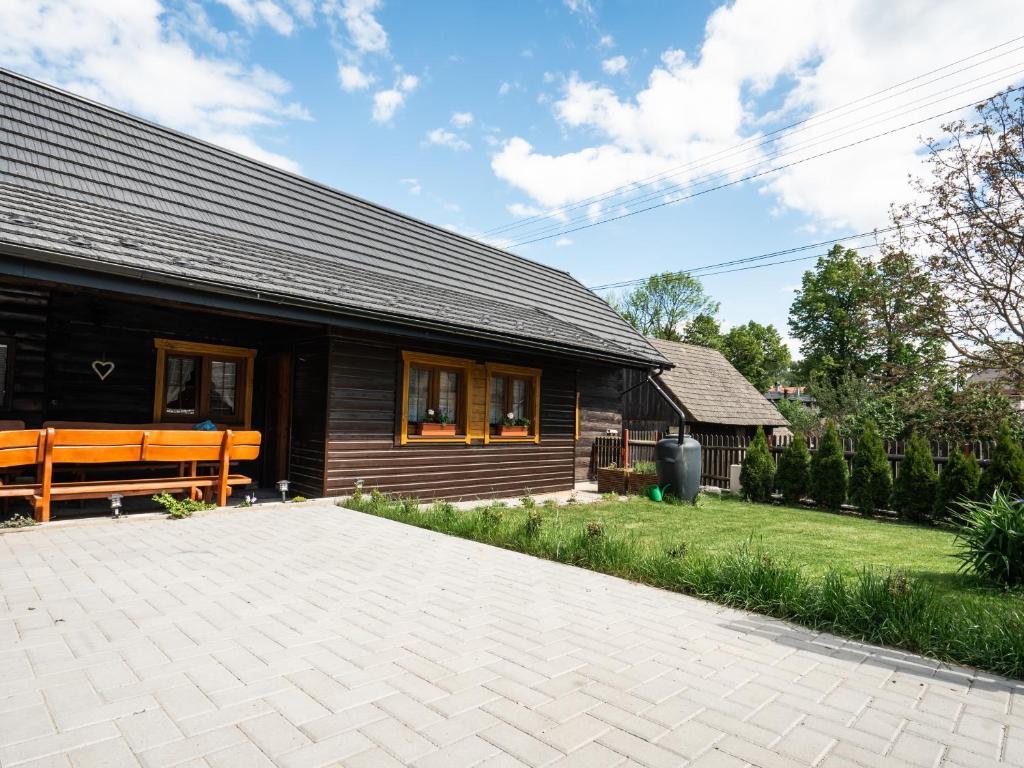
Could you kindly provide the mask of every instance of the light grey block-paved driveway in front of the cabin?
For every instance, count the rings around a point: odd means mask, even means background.
[[[1024,764],[1024,689],[337,509],[0,536],[3,766]]]

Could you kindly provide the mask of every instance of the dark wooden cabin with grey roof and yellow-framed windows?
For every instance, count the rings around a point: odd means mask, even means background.
[[[262,433],[308,497],[571,487],[625,369],[571,275],[0,70],[0,420]]]

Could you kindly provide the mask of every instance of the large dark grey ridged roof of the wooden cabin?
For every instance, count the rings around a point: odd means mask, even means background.
[[[0,69],[0,252],[629,365],[567,272]]]

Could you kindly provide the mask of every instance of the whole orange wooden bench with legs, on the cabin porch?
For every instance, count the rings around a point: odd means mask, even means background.
[[[206,498],[227,504],[232,485],[252,479],[230,474],[232,461],[259,456],[259,432],[202,432],[198,430],[54,429],[0,432],[0,467],[36,465],[36,482],[0,485],[0,498],[27,497],[39,522],[50,518],[53,501],[148,496],[187,490],[194,496],[207,488]],[[184,463],[190,468],[178,477],[142,477],[128,480],[76,480],[54,482],[60,465]],[[199,475],[200,462],[216,462],[216,473]]]

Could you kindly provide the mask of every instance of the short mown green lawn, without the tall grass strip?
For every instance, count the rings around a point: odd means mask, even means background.
[[[1024,609],[1024,591],[993,589],[958,573],[959,560],[951,556],[955,537],[940,528],[715,497],[697,507],[630,497],[544,513],[568,525],[598,520],[609,529],[631,531],[655,550],[686,545],[722,553],[752,542],[813,577],[829,567],[849,574],[864,566],[899,569],[955,599]]]

